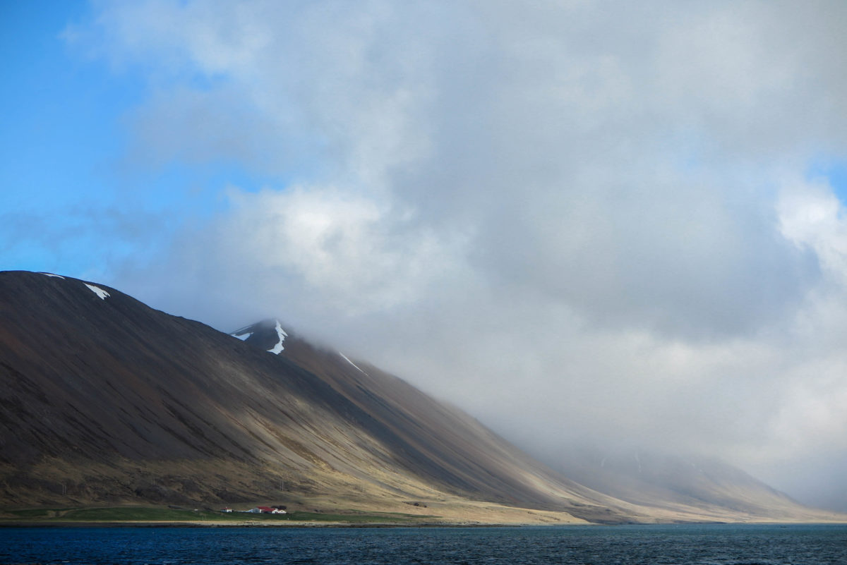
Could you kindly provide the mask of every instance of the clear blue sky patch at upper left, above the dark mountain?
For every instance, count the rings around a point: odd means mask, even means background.
[[[132,162],[128,120],[152,90],[145,69],[75,43],[77,26],[96,27],[88,3],[0,6],[3,268],[111,277],[110,264],[149,259],[181,223],[225,206],[224,186],[262,181],[235,160]],[[139,222],[156,229],[139,238]]]

